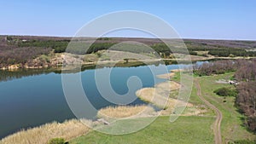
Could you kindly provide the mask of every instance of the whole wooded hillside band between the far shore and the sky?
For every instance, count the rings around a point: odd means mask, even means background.
[[[85,49],[91,38],[82,38],[78,42],[70,43],[71,37],[32,37],[32,36],[0,36],[0,67],[13,64],[23,65],[28,60],[33,60],[39,55],[49,55],[51,52],[69,52],[78,55],[96,53],[102,49],[129,51],[133,53],[158,53],[163,58],[173,58],[175,53],[186,54],[182,49],[172,47],[169,49],[160,39],[154,38],[113,38],[101,37]],[[146,49],[143,44],[113,45],[135,41],[144,43],[152,49]],[[83,44],[81,44],[83,43]],[[201,56],[256,56],[256,42],[253,41],[217,41],[217,40],[184,40],[190,55]],[[89,43],[88,43],[89,44]],[[68,49],[67,49],[68,46]]]

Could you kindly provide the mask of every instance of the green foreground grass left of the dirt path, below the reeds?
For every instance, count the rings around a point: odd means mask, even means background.
[[[92,131],[88,135],[81,136],[70,144],[118,144],[118,143],[214,143],[211,117],[180,117],[174,123],[169,122],[169,117],[157,118],[147,128],[129,135],[107,135]],[[125,124],[125,123],[124,123]]]

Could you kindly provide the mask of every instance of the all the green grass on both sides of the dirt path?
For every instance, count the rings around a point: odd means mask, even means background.
[[[241,113],[237,112],[235,97],[220,97],[213,93],[215,89],[222,87],[233,87],[230,84],[218,84],[219,79],[229,79],[234,73],[226,73],[222,75],[195,77],[199,79],[201,84],[201,95],[207,101],[210,101],[214,106],[223,113],[221,123],[222,141],[228,143],[236,140],[253,140],[256,135],[247,131],[242,125],[244,118]],[[179,79],[179,75],[173,78]],[[196,94],[195,85],[192,88],[192,93],[189,102],[195,106],[205,105]],[[174,95],[171,95],[174,96]],[[226,102],[224,102],[224,100]],[[185,110],[186,111],[186,110]],[[214,135],[212,124],[215,121],[215,113],[208,109],[204,116],[181,116],[174,123],[169,122],[169,117],[157,118],[153,124],[148,125],[143,130],[129,135],[107,135],[97,131],[91,131],[88,135],[84,135],[70,141],[71,144],[84,143],[214,143]],[[120,122],[119,124],[125,124]]]

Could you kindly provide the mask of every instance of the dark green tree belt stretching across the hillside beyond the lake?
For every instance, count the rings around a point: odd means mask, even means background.
[[[102,38],[99,38],[102,39]],[[94,53],[98,50],[102,49],[109,49],[112,47],[114,44],[116,44],[114,41],[111,41],[109,39],[105,39],[105,43],[93,43],[90,46],[90,49],[85,50],[81,48],[81,46],[76,43],[76,45],[73,45],[73,48],[70,48],[71,51],[74,54],[79,54],[79,55],[84,55],[84,54],[90,54]],[[59,40],[59,41],[54,41],[54,40],[48,40],[48,41],[38,41],[38,40],[32,40],[32,41],[26,41],[26,42],[18,42],[18,47],[41,47],[41,48],[51,48],[55,50],[55,53],[62,53],[65,52],[67,49],[67,45],[69,43],[69,40]],[[83,42],[84,43],[84,42]],[[86,43],[85,43],[86,44]],[[78,46],[79,47],[75,47]],[[140,45],[134,44],[138,48],[142,48]],[[154,43],[149,45],[152,49],[154,49],[155,52],[157,52],[159,55],[171,55],[173,52],[169,47],[166,46],[165,43]],[[208,46],[206,43],[196,43],[196,44],[191,44],[191,43],[186,43],[186,46],[189,50],[190,55],[197,55],[196,51],[206,51],[208,55],[216,55],[216,56],[223,56],[223,57],[234,57],[234,56],[256,56],[255,51],[247,51],[246,49],[242,48],[230,48],[230,47],[223,47],[223,46]],[[179,49],[175,49],[174,47],[172,48],[176,53],[186,53],[183,52]],[[120,48],[119,50],[124,50],[124,51],[129,51],[129,49],[125,48]],[[130,50],[131,51],[131,50]],[[152,50],[145,50],[145,49],[132,49],[131,52],[152,52]],[[204,55],[207,56],[207,55]]]

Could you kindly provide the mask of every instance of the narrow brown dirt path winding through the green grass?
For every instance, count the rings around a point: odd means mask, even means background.
[[[217,107],[213,106],[209,101],[207,101],[202,95],[201,95],[201,86],[199,84],[198,79],[195,79],[195,86],[197,88],[197,95],[201,99],[201,101],[204,101],[208,107],[211,107],[212,110],[216,113],[216,120],[213,125],[213,132],[214,132],[214,141],[216,144],[221,144],[221,131],[220,131],[220,124],[222,121],[222,113],[218,110]]]

